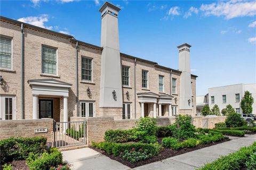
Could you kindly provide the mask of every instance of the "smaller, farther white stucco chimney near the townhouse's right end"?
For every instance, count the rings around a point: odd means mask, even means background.
[[[190,45],[178,46],[180,75],[180,109],[192,109],[192,91],[190,74]]]

